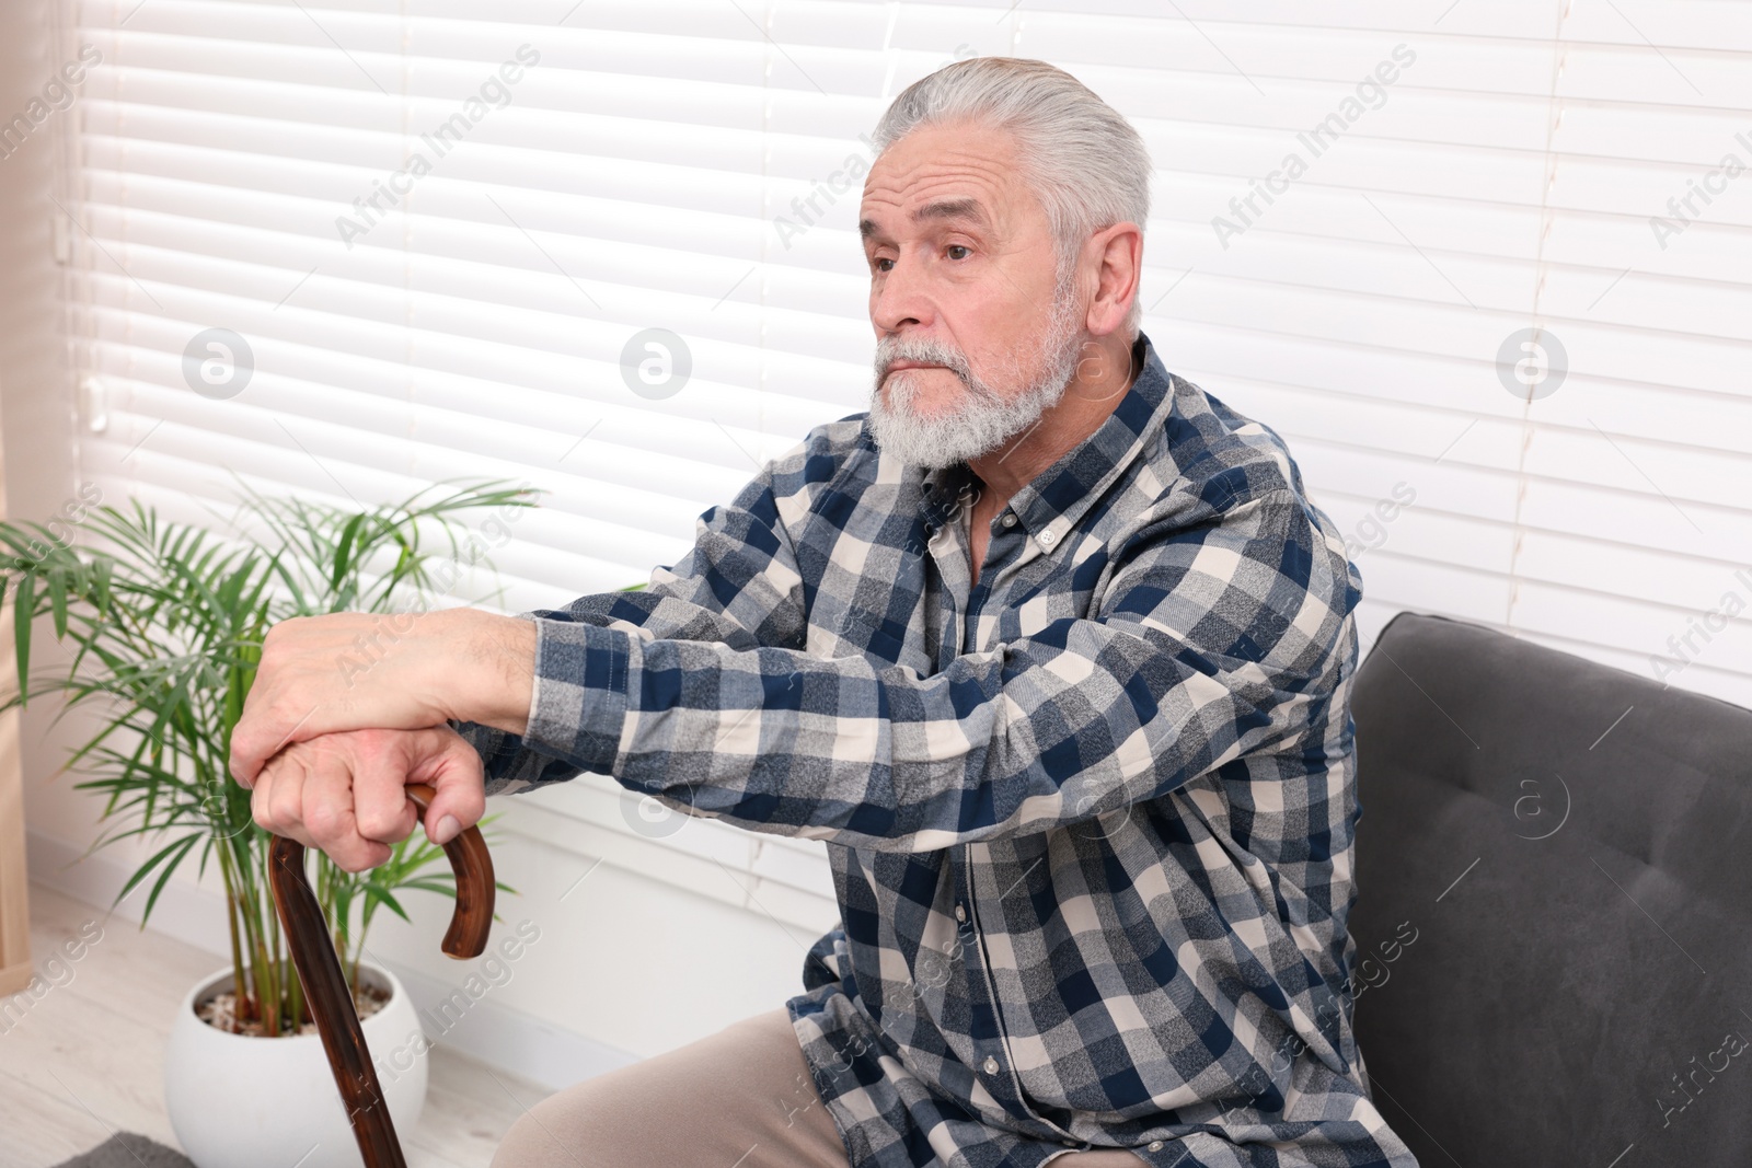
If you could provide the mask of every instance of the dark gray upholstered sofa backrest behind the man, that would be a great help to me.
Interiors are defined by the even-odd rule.
[[[1752,1164],[1752,711],[1400,613],[1353,716],[1358,1045],[1419,1163]]]

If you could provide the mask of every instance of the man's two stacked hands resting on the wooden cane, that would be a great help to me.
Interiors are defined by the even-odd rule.
[[[487,809],[480,755],[447,721],[522,734],[534,646],[533,622],[471,608],[284,620],[231,732],[231,777],[256,823],[347,872],[413,832],[408,783],[436,792],[424,827],[445,844]]]

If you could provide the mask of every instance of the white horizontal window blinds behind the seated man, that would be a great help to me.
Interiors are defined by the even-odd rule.
[[[864,406],[858,135],[950,60],[1041,56],[1149,142],[1146,329],[1289,440],[1356,541],[1365,643],[1451,613],[1643,674],[1663,655],[1752,706],[1752,177],[1724,166],[1752,165],[1743,5],[77,12],[103,61],[77,107],[75,319],[107,420],[81,457],[116,497],[201,518],[226,468],[366,501],[527,478],[552,494],[494,548],[505,608],[643,580],[760,461]],[[1692,182],[1720,191],[1680,222]],[[254,357],[223,399],[184,364],[214,327]],[[1519,350],[1500,361],[1526,327],[1568,366],[1533,399]],[[624,376],[645,329],[685,341],[673,396]],[[589,790],[580,816],[636,835]]]

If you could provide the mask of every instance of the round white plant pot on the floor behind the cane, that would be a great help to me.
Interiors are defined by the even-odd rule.
[[[359,977],[391,991],[384,1009],[361,1026],[396,1136],[406,1145],[426,1103],[420,1019],[394,974],[361,961]],[[251,1038],[214,1030],[194,1014],[194,1003],[230,988],[230,965],[203,977],[182,998],[170,1026],[165,1105],[182,1150],[196,1168],[361,1168],[322,1038]]]

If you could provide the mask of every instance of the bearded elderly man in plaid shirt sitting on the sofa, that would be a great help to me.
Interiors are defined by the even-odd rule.
[[[1279,436],[1137,331],[1149,159],[1067,74],[885,114],[869,415],[638,594],[273,629],[256,820],[380,863],[580,770],[827,842],[804,989],[536,1107],[501,1166],[1391,1164],[1351,1028],[1360,576]],[[701,956],[710,986],[711,954]]]

